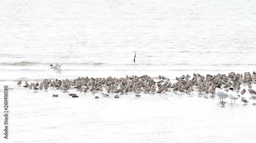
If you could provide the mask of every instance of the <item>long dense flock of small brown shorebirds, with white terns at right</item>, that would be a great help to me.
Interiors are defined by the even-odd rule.
[[[57,67],[61,65],[57,64]],[[53,67],[53,66],[52,66]],[[78,77],[75,80],[50,80],[45,79],[40,83],[25,82],[24,88],[35,90],[45,90],[52,88],[55,90],[61,90],[62,92],[69,92],[70,90],[77,89],[81,93],[92,93],[95,95],[96,92],[101,92],[103,97],[109,97],[109,94],[103,93],[103,89],[107,93],[116,94],[114,98],[119,98],[122,94],[135,93],[135,97],[141,97],[140,93],[145,94],[164,94],[170,91],[176,94],[193,94],[196,91],[198,94],[204,95],[205,98],[208,96],[214,98],[217,95],[220,98],[220,103],[225,105],[223,98],[230,98],[231,103],[234,103],[237,99],[241,98],[241,102],[247,104],[248,101],[245,99],[246,90],[241,90],[241,85],[248,86],[248,93],[251,95],[250,98],[256,99],[256,91],[252,90],[252,84],[256,83],[256,73],[245,72],[244,74],[230,72],[226,74],[217,74],[202,76],[194,73],[190,75],[182,75],[176,77],[176,82],[170,82],[169,78],[159,75],[158,79],[151,78],[148,75],[143,76],[126,76],[124,78],[108,77],[108,78],[89,78],[89,77]],[[17,83],[22,84],[22,81]],[[77,94],[69,94],[72,97],[78,97]],[[58,95],[53,95],[58,97]],[[96,99],[99,97],[96,96]],[[222,99],[222,101],[221,101]],[[253,103],[254,104],[254,103]],[[256,105],[256,104],[255,104]]]

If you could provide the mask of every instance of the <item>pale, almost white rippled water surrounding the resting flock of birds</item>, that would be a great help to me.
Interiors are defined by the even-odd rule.
[[[253,100],[243,105],[226,99],[221,107],[217,98],[199,98],[196,92],[118,100],[114,95],[95,100],[87,93],[70,99],[16,83],[143,74],[174,81],[194,72],[252,72],[255,5],[252,0],[2,2],[0,85],[12,89],[9,142],[252,141]],[[62,71],[49,70],[57,62],[64,64]]]

